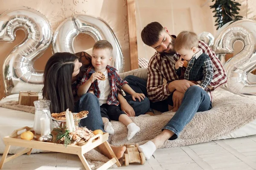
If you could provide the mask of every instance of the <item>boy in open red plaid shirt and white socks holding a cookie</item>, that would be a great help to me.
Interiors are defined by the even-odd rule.
[[[108,65],[111,61],[113,47],[106,40],[99,40],[93,45],[92,66],[84,73],[78,85],[77,94],[82,96],[87,91],[93,93],[99,98],[101,108],[102,121],[104,130],[110,134],[114,133],[110,120],[120,121],[128,128],[127,139],[130,140],[140,131],[130,117],[121,110],[118,100],[118,91],[121,88],[128,94],[131,94],[132,99],[136,98],[144,100],[145,95],[136,93],[129,85],[116,73],[116,68]],[[99,73],[100,72],[100,73]],[[106,78],[106,80],[102,80]]]

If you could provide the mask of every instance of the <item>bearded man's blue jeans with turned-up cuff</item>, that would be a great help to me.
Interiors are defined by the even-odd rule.
[[[145,80],[132,75],[127,76],[125,80],[130,86],[137,86],[138,90],[147,96],[147,82]],[[154,102],[153,105],[150,106],[158,111],[168,111],[167,100]],[[179,109],[162,130],[168,129],[175,133],[169,140],[177,139],[177,136],[192,120],[196,112],[208,111],[211,108],[212,103],[207,92],[202,88],[193,85],[186,90]]]

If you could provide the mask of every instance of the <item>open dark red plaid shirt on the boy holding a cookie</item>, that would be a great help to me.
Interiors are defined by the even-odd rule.
[[[116,73],[116,68],[111,67],[110,65],[107,65],[106,67],[108,71],[108,80],[109,84],[111,86],[111,92],[108,95],[108,105],[116,105],[118,106],[120,103],[117,99],[118,91],[122,88],[123,85],[128,84],[125,80],[121,79],[119,75]],[[93,66],[87,68],[87,70],[84,73],[84,77],[80,80],[79,84],[76,86],[76,89],[78,89],[81,85],[83,85],[88,79],[90,79],[91,75],[95,73]],[[120,88],[120,89],[118,89]],[[90,91],[94,92],[94,95],[100,97],[100,90],[99,90],[99,84],[98,80],[95,80],[92,85],[89,88]]]

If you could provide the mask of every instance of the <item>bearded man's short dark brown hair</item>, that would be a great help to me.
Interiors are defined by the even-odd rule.
[[[141,39],[145,45],[152,46],[157,43],[160,33],[164,30],[163,26],[158,22],[149,23],[141,31]]]

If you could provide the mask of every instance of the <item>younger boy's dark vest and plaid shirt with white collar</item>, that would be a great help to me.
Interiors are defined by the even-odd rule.
[[[175,69],[178,77],[181,76],[181,68]],[[201,87],[206,89],[212,81],[213,69],[210,57],[202,50],[198,51],[188,62],[184,79],[201,81]]]

